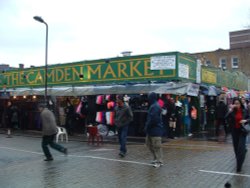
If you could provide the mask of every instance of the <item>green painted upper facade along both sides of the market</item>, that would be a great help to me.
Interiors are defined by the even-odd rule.
[[[187,54],[157,53],[49,65],[47,75],[48,87],[177,80],[195,83],[197,63]],[[0,85],[1,88],[44,87],[44,78],[44,67],[17,69],[1,73]],[[244,74],[209,67],[201,68],[201,83],[247,90]]]

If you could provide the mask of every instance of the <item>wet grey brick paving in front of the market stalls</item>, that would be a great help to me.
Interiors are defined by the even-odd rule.
[[[165,139],[164,165],[154,168],[143,142],[130,140],[128,154],[120,158],[114,138],[105,138],[104,144],[97,146],[76,135],[67,143],[60,142],[68,148],[68,156],[51,149],[54,161],[45,162],[41,135],[16,131],[12,138],[6,138],[3,130],[0,133],[0,182],[4,188],[219,188],[227,182],[236,188],[250,185],[250,156],[247,154],[242,172],[236,173],[230,138],[225,142],[199,137]]]

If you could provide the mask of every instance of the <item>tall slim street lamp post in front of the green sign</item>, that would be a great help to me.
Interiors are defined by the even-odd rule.
[[[45,88],[45,94],[44,94],[44,100],[45,104],[47,105],[47,87],[48,87],[48,31],[49,31],[49,26],[48,24],[40,17],[40,16],[34,16],[33,17],[36,21],[44,23],[46,26],[46,41],[45,41],[45,83],[44,83],[44,88]]]

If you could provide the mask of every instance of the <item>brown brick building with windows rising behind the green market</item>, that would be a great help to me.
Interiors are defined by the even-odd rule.
[[[230,49],[194,53],[205,66],[237,70],[250,77],[250,29],[229,33]]]

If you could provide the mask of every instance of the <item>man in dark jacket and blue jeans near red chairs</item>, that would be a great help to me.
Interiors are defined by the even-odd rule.
[[[124,103],[123,96],[119,95],[116,99],[117,106],[115,107],[115,125],[118,130],[118,138],[120,143],[120,157],[125,157],[127,153],[126,142],[128,134],[128,126],[133,120],[131,108]]]

